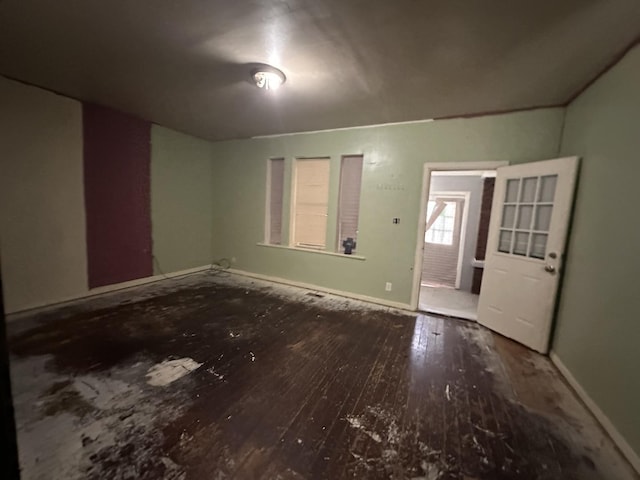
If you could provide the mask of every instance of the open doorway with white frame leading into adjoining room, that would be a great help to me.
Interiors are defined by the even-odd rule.
[[[425,164],[412,306],[477,320],[495,170],[507,162]]]

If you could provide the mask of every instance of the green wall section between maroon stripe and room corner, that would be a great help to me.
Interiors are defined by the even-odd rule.
[[[211,143],[153,125],[151,229],[154,273],[211,263]]]

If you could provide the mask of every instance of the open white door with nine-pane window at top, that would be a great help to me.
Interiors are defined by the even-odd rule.
[[[546,353],[578,158],[497,170],[478,322]]]

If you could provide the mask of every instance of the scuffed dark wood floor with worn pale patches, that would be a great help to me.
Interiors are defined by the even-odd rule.
[[[9,325],[25,479],[632,479],[475,323],[196,275]]]

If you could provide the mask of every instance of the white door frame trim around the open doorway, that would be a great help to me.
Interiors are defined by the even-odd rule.
[[[416,251],[413,261],[413,287],[411,289],[411,309],[418,310],[420,298],[420,280],[422,279],[422,261],[424,259],[424,229],[427,225],[427,202],[429,201],[429,188],[431,186],[431,173],[435,171],[460,171],[460,170],[497,170],[499,167],[509,165],[506,161],[495,162],[438,162],[425,163],[422,170],[422,189],[420,192],[420,213],[418,216],[418,231],[416,232]]]

